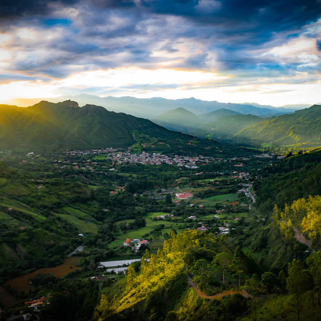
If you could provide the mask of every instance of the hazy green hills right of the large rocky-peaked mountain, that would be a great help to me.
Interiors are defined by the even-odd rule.
[[[166,128],[197,137],[212,137],[237,144],[317,144],[321,138],[321,107],[313,105],[294,113],[268,118],[218,109],[195,115],[183,108],[163,113],[153,121]]]

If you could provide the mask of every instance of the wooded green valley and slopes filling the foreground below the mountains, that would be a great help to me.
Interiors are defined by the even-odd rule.
[[[283,159],[202,156],[201,171],[114,164],[105,154],[3,156],[5,315],[44,297],[40,311],[27,304],[23,313],[53,321],[318,319],[317,149]],[[180,201],[178,191],[193,198]],[[147,243],[135,250],[122,245],[126,238]],[[124,259],[134,260],[125,273],[100,263]]]

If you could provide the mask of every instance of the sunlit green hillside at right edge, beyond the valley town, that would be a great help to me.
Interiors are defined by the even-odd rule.
[[[321,133],[321,106],[297,110],[275,119],[257,123],[235,134],[238,142],[249,140],[252,144],[271,142],[274,145],[318,143]]]

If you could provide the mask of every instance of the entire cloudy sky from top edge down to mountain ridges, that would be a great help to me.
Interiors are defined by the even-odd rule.
[[[0,99],[321,102],[321,0],[1,0]]]

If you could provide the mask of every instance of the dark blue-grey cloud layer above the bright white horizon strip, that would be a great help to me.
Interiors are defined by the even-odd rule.
[[[303,32],[317,39],[321,51],[319,31],[304,27],[320,17],[321,4],[312,0],[0,1],[3,31],[30,27],[54,35],[23,44],[16,36],[8,47],[23,55],[13,55],[11,70],[55,78],[99,68],[155,68],[170,55],[179,60],[172,68],[244,77],[294,75],[298,69],[313,73],[311,66],[262,53]]]

